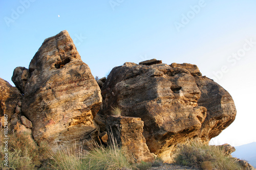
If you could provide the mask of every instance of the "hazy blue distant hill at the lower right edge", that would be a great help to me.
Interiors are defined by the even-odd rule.
[[[231,155],[239,159],[248,161],[252,166],[256,167],[256,142],[241,145],[236,148],[236,152]]]

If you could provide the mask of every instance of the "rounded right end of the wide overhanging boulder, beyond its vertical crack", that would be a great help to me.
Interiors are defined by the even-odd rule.
[[[207,116],[199,131],[201,138],[218,136],[236,118],[237,110],[231,95],[207,77],[195,76],[201,97],[198,105],[207,109]]]

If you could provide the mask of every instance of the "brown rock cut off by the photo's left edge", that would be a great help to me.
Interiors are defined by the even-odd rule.
[[[20,101],[22,101],[22,94],[19,90],[0,78],[0,116],[6,114],[10,120]]]

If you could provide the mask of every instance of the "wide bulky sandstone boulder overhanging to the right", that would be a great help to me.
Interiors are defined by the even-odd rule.
[[[216,86],[214,92],[205,87],[209,84]],[[124,63],[113,68],[101,91],[100,113],[110,115],[118,106],[122,116],[140,117],[148,148],[165,162],[171,161],[177,143],[196,136],[215,137],[236,116],[228,92],[202,77],[192,64]]]

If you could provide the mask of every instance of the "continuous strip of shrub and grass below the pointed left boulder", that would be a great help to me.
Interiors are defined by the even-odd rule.
[[[130,163],[129,158],[118,148],[113,136],[111,136],[113,144],[108,147],[94,141],[90,150],[86,151],[82,149],[82,145],[77,147],[74,143],[73,148],[62,148],[57,153],[52,153],[49,152],[51,149],[46,143],[38,146],[34,141],[29,140],[29,135],[29,133],[16,131],[8,135],[10,169],[148,169],[162,163],[159,159],[156,159],[154,163]],[[1,169],[5,169],[4,138],[4,133],[1,131]]]

